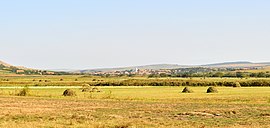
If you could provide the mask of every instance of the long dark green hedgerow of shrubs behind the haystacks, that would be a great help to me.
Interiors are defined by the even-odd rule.
[[[270,80],[241,80],[235,82],[235,80],[177,80],[177,79],[130,79],[124,81],[96,81],[89,83],[91,86],[226,86],[234,87],[250,87],[250,86],[270,86]],[[237,84],[237,85],[236,85]]]

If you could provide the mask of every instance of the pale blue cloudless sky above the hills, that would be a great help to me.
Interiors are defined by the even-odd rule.
[[[1,0],[0,60],[39,69],[270,61],[269,0]]]

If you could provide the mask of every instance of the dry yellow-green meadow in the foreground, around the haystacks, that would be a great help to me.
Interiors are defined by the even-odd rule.
[[[0,127],[270,127],[270,87],[99,87],[0,89]]]

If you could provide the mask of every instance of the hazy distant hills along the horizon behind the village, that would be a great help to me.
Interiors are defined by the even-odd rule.
[[[87,69],[87,70],[69,70],[69,69],[55,69],[50,71],[30,69],[25,67],[13,66],[4,61],[0,61],[0,74],[65,74],[65,73],[93,73],[93,72],[110,72],[110,71],[130,71],[135,69],[149,69],[149,70],[160,70],[160,69],[181,69],[181,68],[250,68],[252,69],[260,67],[270,67],[270,62],[263,63],[252,63],[248,61],[236,61],[236,62],[224,62],[214,63],[206,65],[178,65],[178,64],[154,64],[154,65],[143,65],[143,66],[129,66],[129,67],[118,67],[118,68],[99,68],[99,69]]]

